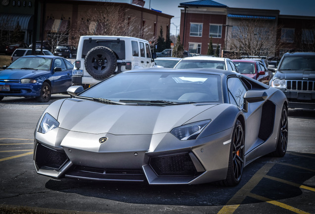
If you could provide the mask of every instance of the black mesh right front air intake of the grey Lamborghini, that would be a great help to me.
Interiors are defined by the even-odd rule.
[[[152,157],[150,165],[157,175],[195,175],[197,172],[189,154]]]

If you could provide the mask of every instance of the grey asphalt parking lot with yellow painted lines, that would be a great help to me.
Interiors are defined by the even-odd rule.
[[[66,97],[53,95],[51,102]],[[149,186],[38,175],[32,160],[33,133],[47,106],[22,98],[0,102],[0,207],[51,213],[315,214],[313,110],[289,110],[287,154],[250,163],[236,187]]]

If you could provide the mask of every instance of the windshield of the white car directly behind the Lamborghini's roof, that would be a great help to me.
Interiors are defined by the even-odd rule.
[[[223,61],[215,60],[181,60],[174,67],[176,69],[188,69],[188,68],[217,68],[225,70]]]

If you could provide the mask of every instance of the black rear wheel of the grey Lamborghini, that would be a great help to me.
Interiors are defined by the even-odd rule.
[[[283,157],[287,152],[288,146],[288,109],[286,106],[282,107],[281,118],[279,124],[279,132],[277,139],[276,150],[271,153],[273,157]]]

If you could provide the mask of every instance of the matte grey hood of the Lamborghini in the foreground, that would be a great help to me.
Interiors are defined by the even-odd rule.
[[[76,132],[114,135],[157,134],[171,131],[213,106],[215,105],[107,105],[94,101],[67,99],[60,107],[57,120],[60,128]]]

